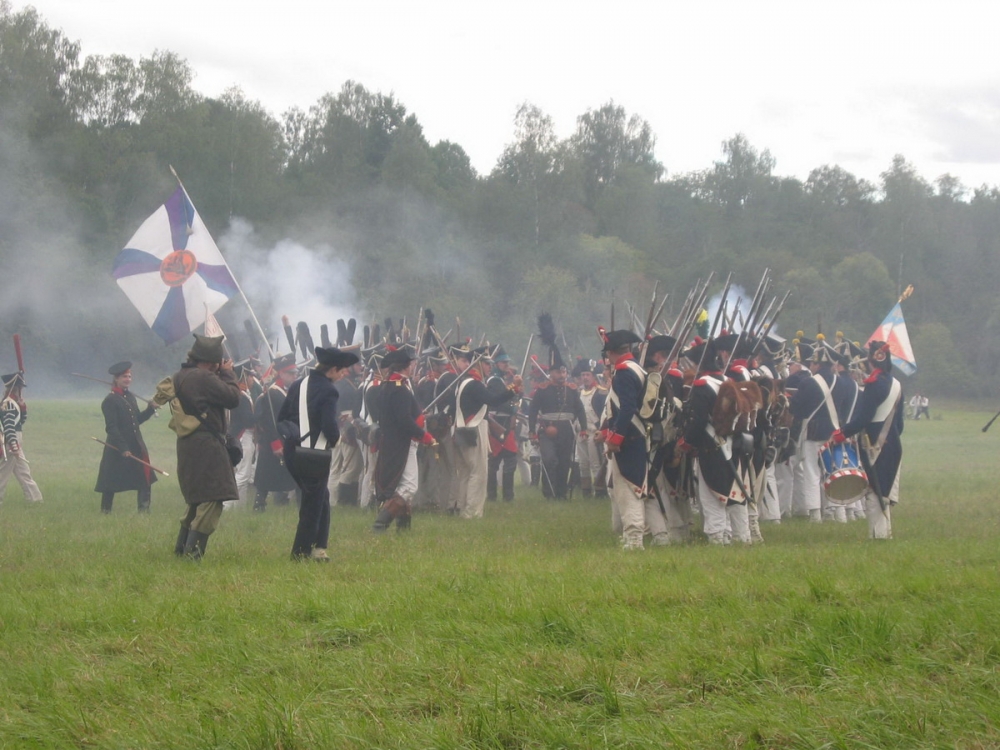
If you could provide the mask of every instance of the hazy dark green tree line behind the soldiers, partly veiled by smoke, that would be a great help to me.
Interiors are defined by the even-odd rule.
[[[669,316],[710,270],[752,287],[770,268],[793,290],[786,336],[822,326],[863,341],[912,283],[904,313],[917,385],[1000,390],[997,187],[928,181],[901,155],[878,183],[836,165],[782,177],[742,134],[707,168],[672,175],[649,123],[614,102],[580,115],[566,139],[525,103],[480,174],[460,144],[430,143],[416,114],[361,83],[276,116],[238,88],[203,96],[193,78],[168,51],[84,58],[34,9],[0,0],[0,257],[24,275],[63,248],[73,272],[53,280],[55,296],[72,296],[72,281],[107,297],[59,324],[39,312],[31,284],[32,299],[6,301],[4,328],[33,330],[53,365],[108,335],[167,357],[133,325],[109,271],[172,191],[172,165],[217,236],[239,217],[265,240],[348,261],[363,319],[412,321],[432,306],[523,351],[544,310],[571,353],[592,356],[612,296],[619,309],[643,306],[659,280],[672,292]],[[274,327],[295,314],[254,304]]]

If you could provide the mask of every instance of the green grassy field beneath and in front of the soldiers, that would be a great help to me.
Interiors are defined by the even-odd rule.
[[[172,554],[171,477],[101,516],[98,402],[33,402],[45,494],[0,507],[0,746],[1000,747],[1000,530],[986,412],[907,422],[896,539],[765,525],[764,546],[626,554],[607,501],[518,488],[479,521],[373,537],[227,511]],[[949,408],[950,407],[950,408]],[[146,426],[174,467],[166,420]]]

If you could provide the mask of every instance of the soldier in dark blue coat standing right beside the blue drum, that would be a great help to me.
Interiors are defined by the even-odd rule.
[[[892,376],[892,357],[884,341],[868,344],[872,374],[865,378],[854,416],[831,440],[861,435],[859,453],[868,474],[865,515],[872,539],[891,539],[890,509],[899,502],[899,463],[903,457],[903,387]]]

